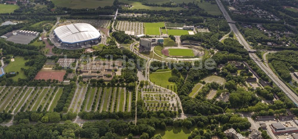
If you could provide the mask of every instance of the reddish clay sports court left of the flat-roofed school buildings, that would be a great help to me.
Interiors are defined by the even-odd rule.
[[[61,82],[65,73],[66,71],[39,71],[34,79],[56,79]]]

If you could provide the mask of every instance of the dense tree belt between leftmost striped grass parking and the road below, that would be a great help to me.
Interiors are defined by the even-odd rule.
[[[43,123],[47,122],[59,122],[59,121],[66,121],[72,120],[76,118],[77,114],[68,112],[66,114],[57,113],[57,112],[37,112],[37,111],[25,111],[19,112],[14,116],[14,121],[18,124],[33,121],[38,122],[41,121]]]

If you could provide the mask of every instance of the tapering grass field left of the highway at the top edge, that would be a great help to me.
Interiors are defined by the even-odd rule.
[[[193,2],[193,0],[173,0],[176,3],[189,3]],[[198,4],[200,8],[205,10],[207,13],[211,15],[221,15],[221,10],[218,8],[217,4],[211,4],[210,2],[200,2],[199,0],[195,1],[194,4]]]

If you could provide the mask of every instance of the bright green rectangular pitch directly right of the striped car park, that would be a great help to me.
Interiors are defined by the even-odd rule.
[[[164,27],[163,22],[158,23],[145,23],[144,33],[146,35],[160,35],[159,28]]]

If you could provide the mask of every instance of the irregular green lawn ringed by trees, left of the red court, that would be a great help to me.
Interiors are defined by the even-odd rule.
[[[14,81],[18,81],[18,78],[24,79],[26,78],[26,75],[24,74],[24,71],[21,70],[21,68],[29,68],[30,66],[25,66],[25,62],[29,60],[24,60],[23,57],[15,57],[15,61],[11,62],[4,68],[4,71],[6,73],[10,71],[19,72],[16,76],[11,77]]]

